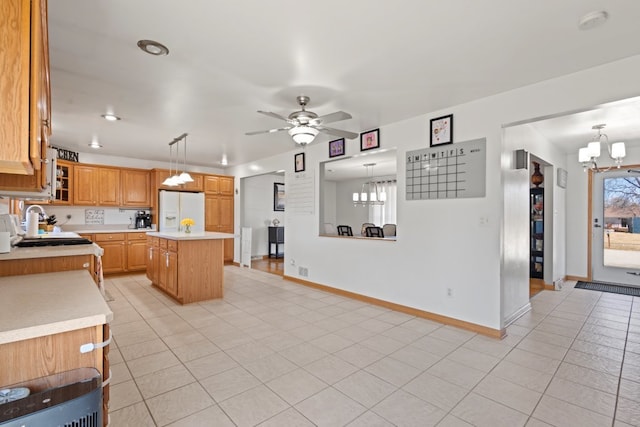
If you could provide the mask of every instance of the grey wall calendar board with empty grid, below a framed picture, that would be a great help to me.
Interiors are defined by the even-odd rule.
[[[484,197],[486,138],[407,151],[407,200]]]

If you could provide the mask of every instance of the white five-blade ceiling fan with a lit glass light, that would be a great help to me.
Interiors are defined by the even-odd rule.
[[[273,133],[283,130],[288,131],[289,135],[293,138],[296,144],[307,145],[313,141],[319,132],[327,133],[329,135],[339,136],[341,138],[355,139],[358,137],[357,133],[349,132],[341,129],[334,129],[325,126],[325,123],[338,122],[340,120],[347,120],[351,118],[351,114],[344,111],[336,111],[335,113],[326,114],[324,116],[318,116],[313,111],[305,110],[306,105],[309,103],[309,97],[300,95],[296,98],[298,104],[300,104],[300,111],[294,111],[289,114],[289,117],[281,116],[280,114],[272,113],[270,111],[260,111],[258,113],[265,116],[273,117],[276,119],[284,120],[288,123],[288,126],[281,128],[274,128],[268,130],[259,130],[254,132],[247,132],[247,135],[258,135],[261,133]]]

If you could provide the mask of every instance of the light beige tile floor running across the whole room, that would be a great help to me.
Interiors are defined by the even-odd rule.
[[[114,301],[111,426],[638,426],[640,300],[543,291],[498,341],[225,267],[180,306]]]

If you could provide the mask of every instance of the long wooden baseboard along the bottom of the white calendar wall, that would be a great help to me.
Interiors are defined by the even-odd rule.
[[[357,294],[355,292],[345,291],[343,289],[333,288],[327,285],[320,285],[315,282],[310,282],[308,280],[299,279],[297,277],[292,276],[283,276],[285,280],[289,280],[291,282],[298,283],[300,285],[308,286],[310,288],[318,289],[325,292],[330,292],[332,294],[340,295],[343,297],[355,299],[358,301],[366,302],[369,304],[377,305],[379,307],[388,308],[390,310],[399,311],[401,313],[410,314],[412,316],[421,317],[423,319],[433,320],[435,322],[444,323],[445,325],[455,326],[457,328],[466,329],[467,331],[475,332],[478,334],[482,334],[491,338],[502,339],[507,336],[507,330],[503,329],[493,329],[488,328],[486,326],[478,325],[476,323],[466,322],[464,320],[455,319],[453,317],[443,316],[441,314],[431,313],[429,311],[419,310],[413,307],[407,307],[406,305],[400,305],[393,302],[369,297],[362,294]]]

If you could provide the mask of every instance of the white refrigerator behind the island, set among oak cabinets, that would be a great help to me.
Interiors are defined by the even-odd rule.
[[[193,232],[204,231],[204,193],[160,190],[159,231],[184,231],[180,221],[191,218]]]

